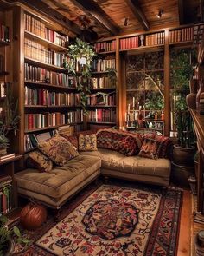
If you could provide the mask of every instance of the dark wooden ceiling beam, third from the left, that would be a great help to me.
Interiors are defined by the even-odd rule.
[[[129,5],[134,15],[137,17],[137,20],[143,26],[143,30],[150,30],[150,24],[147,21],[146,16],[143,14],[143,10],[140,8],[137,0],[125,0]]]

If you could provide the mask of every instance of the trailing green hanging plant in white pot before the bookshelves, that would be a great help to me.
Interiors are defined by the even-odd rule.
[[[90,92],[90,78],[92,59],[96,56],[92,46],[89,43],[76,38],[75,42],[69,45],[69,58],[64,62],[64,68],[73,76],[77,76],[76,67],[80,64],[81,75],[77,81],[77,89],[80,92],[80,105],[84,115],[88,115],[87,111],[87,95]]]

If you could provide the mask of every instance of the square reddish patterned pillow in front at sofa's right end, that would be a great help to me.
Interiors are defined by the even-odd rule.
[[[160,141],[145,138],[138,155],[150,159],[157,159],[159,157],[161,145]]]

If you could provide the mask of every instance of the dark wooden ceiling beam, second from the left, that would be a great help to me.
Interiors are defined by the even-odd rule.
[[[112,36],[117,36],[119,27],[110,22],[106,17],[106,13],[93,0],[71,0],[74,5],[91,16],[100,26],[105,28]]]

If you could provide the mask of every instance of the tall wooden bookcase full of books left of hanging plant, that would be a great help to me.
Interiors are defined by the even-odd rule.
[[[79,130],[83,124],[83,115],[81,115],[82,110],[79,102],[61,103],[58,102],[58,98],[53,98],[55,95],[61,98],[62,95],[72,97],[72,95],[79,94],[76,89],[77,81],[73,81],[72,77],[67,74],[67,70],[63,68],[63,59],[66,58],[68,53],[66,43],[69,35],[61,33],[67,33],[67,29],[59,23],[54,23],[48,16],[35,15],[32,10],[25,6],[14,7],[14,17],[14,30],[16,31],[16,38],[18,38],[14,47],[20,49],[20,54],[16,53],[17,61],[14,65],[16,66],[14,68],[16,69],[17,81],[16,95],[19,97],[21,115],[18,143],[16,144],[18,145],[18,152],[24,154],[28,151],[24,147],[26,145],[25,135],[52,133],[63,125],[71,125]],[[27,23],[30,20],[31,23]],[[37,25],[36,27],[32,27],[34,23]],[[43,29],[41,30],[41,28]],[[46,31],[44,31],[44,28],[46,28]],[[35,47],[36,50],[34,51]],[[27,99],[25,88],[30,90],[30,99],[32,99],[33,94],[37,96],[35,102],[32,100],[29,100],[31,101],[29,103],[25,102]],[[51,103],[41,102],[42,91],[48,95],[48,97],[43,96],[44,101],[47,101],[50,97]],[[71,113],[75,113],[73,117]],[[54,117],[54,115],[58,115],[58,117]],[[29,128],[28,116],[29,120],[32,119]],[[36,121],[38,118],[41,118],[41,121]],[[40,124],[39,128],[38,123]]]

